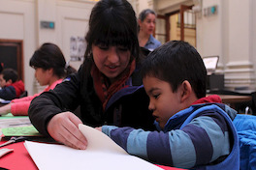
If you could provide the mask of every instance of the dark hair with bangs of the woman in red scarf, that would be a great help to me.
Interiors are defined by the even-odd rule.
[[[131,51],[131,59],[139,57],[137,18],[126,0],[101,0],[92,9],[85,36],[85,60],[92,55],[92,44],[122,45]]]

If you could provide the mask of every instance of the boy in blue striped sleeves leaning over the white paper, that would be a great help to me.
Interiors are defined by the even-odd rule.
[[[207,71],[187,42],[167,42],[144,61],[144,90],[157,131],[103,126],[129,154],[179,168],[239,169],[237,112],[206,97]],[[136,118],[135,118],[136,119]]]

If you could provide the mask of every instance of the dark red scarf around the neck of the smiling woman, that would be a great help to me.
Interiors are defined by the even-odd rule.
[[[129,86],[126,84],[126,81],[129,79],[133,71],[135,71],[135,67],[136,63],[135,60],[133,60],[131,64],[127,66],[125,71],[123,71],[120,75],[117,75],[119,78],[111,84],[109,78],[99,71],[95,64],[93,64],[91,68],[91,76],[93,78],[94,89],[102,101],[104,110],[113,94]]]

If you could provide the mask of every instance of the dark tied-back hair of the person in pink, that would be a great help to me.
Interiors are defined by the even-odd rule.
[[[43,70],[53,69],[53,73],[58,77],[64,77],[76,70],[66,64],[60,48],[53,43],[42,44],[30,59],[29,66],[41,68]]]

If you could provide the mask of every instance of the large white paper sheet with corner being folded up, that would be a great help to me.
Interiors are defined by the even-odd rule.
[[[111,138],[95,128],[80,125],[86,136],[86,150],[64,145],[25,141],[24,145],[40,170],[160,170],[137,156],[128,155]]]

